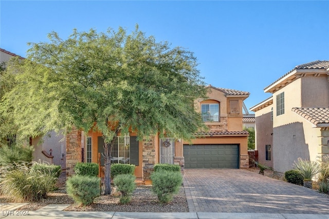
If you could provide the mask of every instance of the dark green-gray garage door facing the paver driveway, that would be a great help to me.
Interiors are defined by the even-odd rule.
[[[239,168],[239,145],[184,145],[185,168]]]

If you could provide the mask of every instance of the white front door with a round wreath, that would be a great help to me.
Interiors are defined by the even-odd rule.
[[[175,139],[160,138],[160,163],[174,164]]]

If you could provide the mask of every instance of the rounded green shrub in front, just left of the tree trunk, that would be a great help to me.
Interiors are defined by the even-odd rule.
[[[76,203],[89,205],[100,196],[100,178],[97,176],[74,175],[66,181],[66,192]]]

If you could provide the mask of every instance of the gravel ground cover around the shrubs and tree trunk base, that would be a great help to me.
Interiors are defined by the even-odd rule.
[[[49,193],[47,198],[40,202],[30,203],[18,210],[35,211],[50,204],[70,204],[64,211],[189,212],[184,187],[180,188],[179,193],[174,195],[174,199],[168,204],[159,203],[156,195],[151,192],[152,186],[148,185],[136,187],[131,203],[126,205],[119,203],[119,197],[102,195],[95,198],[93,204],[80,206],[66,194],[65,180],[63,172],[57,183],[58,190]]]

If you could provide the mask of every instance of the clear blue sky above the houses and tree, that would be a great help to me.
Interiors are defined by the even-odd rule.
[[[193,51],[205,82],[250,92],[247,108],[271,94],[264,87],[296,65],[329,60],[328,1],[0,1],[0,47],[25,57],[27,42],[50,31],[105,32],[119,26]]]

